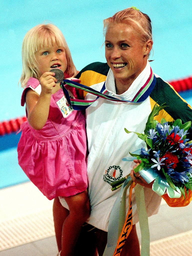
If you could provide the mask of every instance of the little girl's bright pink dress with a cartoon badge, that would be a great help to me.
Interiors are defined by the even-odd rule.
[[[39,81],[30,78],[23,91],[36,90]],[[28,178],[49,199],[71,196],[87,188],[87,138],[85,117],[72,110],[62,89],[51,95],[49,116],[41,130],[28,121],[22,124],[18,162]]]

